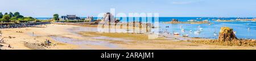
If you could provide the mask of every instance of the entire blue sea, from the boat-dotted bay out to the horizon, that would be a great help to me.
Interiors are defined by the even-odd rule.
[[[51,18],[37,18],[37,19],[51,19]],[[94,19],[101,19],[94,17]],[[118,18],[121,21],[125,21],[123,18]],[[139,20],[143,18],[126,18]],[[147,18],[146,18],[147,19]],[[163,22],[171,21],[172,19],[177,19],[179,21],[188,21],[188,20],[209,20],[212,24],[164,24]],[[213,20],[214,19],[214,20]],[[214,36],[214,33],[218,35],[221,27],[230,27],[233,28],[233,31],[236,32],[237,38],[241,39],[256,39],[256,21],[226,21],[218,22],[217,19],[221,20],[236,20],[236,19],[253,19],[253,18],[220,18],[220,17],[159,17],[159,31],[167,31],[170,33],[180,33],[180,36],[183,34],[188,34],[189,37],[200,37],[200,38],[209,38],[217,39],[218,36]],[[152,18],[154,21],[154,18]],[[168,27],[168,28],[167,28]],[[201,29],[200,29],[201,28]],[[184,31],[181,31],[184,29]],[[196,32],[200,31],[200,33]]]

